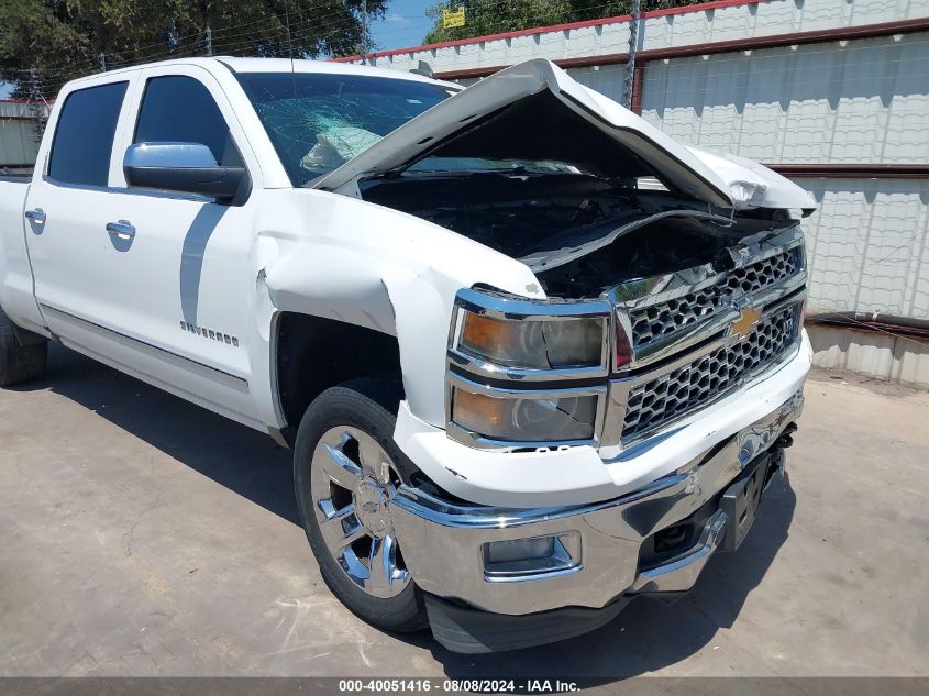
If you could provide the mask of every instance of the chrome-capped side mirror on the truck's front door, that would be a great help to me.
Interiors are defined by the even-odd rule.
[[[210,148],[200,143],[139,143],[123,157],[123,173],[130,186],[236,198],[247,183],[244,167],[221,167]]]

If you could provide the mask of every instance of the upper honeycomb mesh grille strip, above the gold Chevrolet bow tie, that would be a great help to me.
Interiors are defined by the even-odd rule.
[[[730,297],[757,292],[800,269],[800,251],[790,248],[720,275],[711,286],[631,312],[632,345],[641,349],[712,314]]]

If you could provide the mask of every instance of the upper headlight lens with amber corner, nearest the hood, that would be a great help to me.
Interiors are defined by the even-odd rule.
[[[602,362],[602,317],[502,319],[462,310],[457,349],[491,363],[529,369],[596,367]]]

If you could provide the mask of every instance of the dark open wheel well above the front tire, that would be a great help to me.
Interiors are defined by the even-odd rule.
[[[400,374],[397,339],[374,329],[309,314],[283,312],[274,356],[277,397],[294,444],[307,407],[325,389],[367,375]]]

